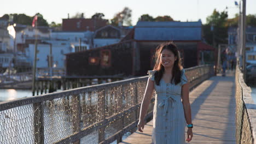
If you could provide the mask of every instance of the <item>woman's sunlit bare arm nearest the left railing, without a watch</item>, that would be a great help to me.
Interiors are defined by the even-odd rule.
[[[148,78],[146,91],[144,93],[144,97],[143,97],[143,100],[141,103],[141,111],[139,113],[138,130],[141,132],[143,132],[142,129],[144,129],[144,117],[148,111],[148,107],[149,107],[150,101],[152,99],[153,91],[154,91],[154,81],[152,81],[152,80],[150,80],[150,78]]]

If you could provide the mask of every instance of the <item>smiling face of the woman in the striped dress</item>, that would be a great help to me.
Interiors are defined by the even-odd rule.
[[[164,49],[161,52],[161,64],[165,68],[173,67],[174,62],[176,61],[177,57],[174,56],[174,53],[170,50]]]

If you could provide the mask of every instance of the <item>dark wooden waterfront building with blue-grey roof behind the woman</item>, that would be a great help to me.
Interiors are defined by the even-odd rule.
[[[146,75],[154,67],[156,47],[174,41],[184,68],[200,64],[201,51],[214,51],[201,40],[201,22],[138,22],[118,44],[66,55],[67,76]]]

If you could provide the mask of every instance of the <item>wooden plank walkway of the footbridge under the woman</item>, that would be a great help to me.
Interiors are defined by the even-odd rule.
[[[194,137],[189,143],[236,143],[234,73],[211,77],[190,92]],[[120,143],[152,143],[152,128],[153,121],[150,121],[145,125],[144,133],[137,130]],[[187,132],[185,136],[187,139]]]

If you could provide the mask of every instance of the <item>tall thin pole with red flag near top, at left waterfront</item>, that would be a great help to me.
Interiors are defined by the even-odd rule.
[[[37,21],[35,23],[34,33],[36,35],[34,40],[34,66],[33,66],[33,80],[32,80],[32,96],[34,96],[35,84],[36,84],[36,68],[37,68]]]

